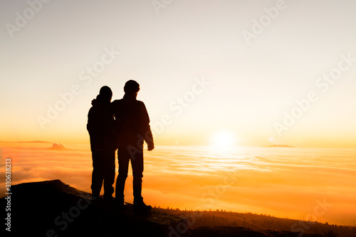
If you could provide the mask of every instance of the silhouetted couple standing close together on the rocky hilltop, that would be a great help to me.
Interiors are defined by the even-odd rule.
[[[88,113],[88,132],[93,156],[92,193],[100,196],[104,183],[104,199],[113,199],[115,180],[115,150],[119,163],[119,174],[115,187],[115,202],[119,208],[125,207],[124,189],[129,163],[133,176],[133,196],[135,211],[150,211],[142,198],[143,143],[152,151],[152,131],[145,104],[137,101],[140,85],[133,80],[124,86],[125,95],[111,102],[112,91],[103,86]]]

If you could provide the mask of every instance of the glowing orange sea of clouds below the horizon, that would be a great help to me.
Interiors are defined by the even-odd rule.
[[[52,150],[52,143],[0,145],[2,157],[11,157],[13,185],[58,178],[90,192],[89,145],[66,144],[60,150]],[[356,213],[355,156],[355,150],[337,149],[221,152],[206,146],[157,146],[145,151],[142,193],[146,203],[163,208],[224,208],[296,219],[312,213],[316,221],[351,225]],[[132,202],[129,172],[125,197]],[[4,193],[4,180],[0,191]],[[320,203],[328,208],[323,215],[313,213]]]

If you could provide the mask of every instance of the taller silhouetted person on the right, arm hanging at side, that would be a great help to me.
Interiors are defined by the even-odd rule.
[[[123,99],[112,102],[112,108],[117,123],[119,174],[116,180],[115,198],[117,203],[124,206],[124,189],[129,162],[131,160],[133,176],[134,210],[147,212],[151,206],[143,202],[142,172],[143,172],[143,142],[146,141],[148,151],[152,151],[153,143],[150,128],[150,118],[145,104],[137,101],[140,85],[133,80],[127,81],[124,87]]]

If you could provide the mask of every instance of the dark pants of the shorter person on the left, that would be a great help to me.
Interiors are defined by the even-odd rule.
[[[115,150],[92,151],[93,173],[91,190],[93,196],[100,196],[104,182],[104,196],[112,196],[115,181]]]

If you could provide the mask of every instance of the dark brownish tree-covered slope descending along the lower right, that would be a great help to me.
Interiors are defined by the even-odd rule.
[[[290,218],[277,218],[266,214],[236,213],[232,211],[190,211],[179,210],[178,208],[155,208],[172,216],[178,216],[187,219],[187,224],[192,227],[192,231],[197,228],[206,228],[206,226],[218,228],[224,226],[227,231],[230,227],[244,227],[254,231],[272,234],[299,232],[298,236],[308,236],[308,234],[318,233],[320,236],[342,236],[356,237],[355,226],[337,226],[329,223],[320,223],[318,221],[300,221]],[[203,228],[203,229],[204,229]],[[212,229],[214,229],[212,228]]]

